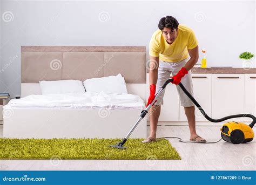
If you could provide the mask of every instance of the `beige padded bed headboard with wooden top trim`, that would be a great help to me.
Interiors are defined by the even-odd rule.
[[[21,97],[41,94],[39,81],[121,73],[127,90],[146,99],[145,46],[21,46]]]

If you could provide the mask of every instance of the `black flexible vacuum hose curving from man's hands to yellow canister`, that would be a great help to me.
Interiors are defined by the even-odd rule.
[[[187,95],[187,97],[191,99],[191,101],[194,103],[194,105],[196,105],[198,107],[199,111],[204,115],[204,117],[207,120],[209,120],[211,122],[221,122],[221,121],[225,121],[225,120],[231,119],[231,118],[248,117],[248,118],[252,118],[252,122],[249,126],[251,128],[254,126],[255,117],[252,114],[235,114],[235,115],[229,115],[227,117],[220,118],[220,119],[212,119],[212,118],[208,117],[208,115],[205,113],[204,109],[198,104],[198,102],[192,97],[192,95],[186,90],[186,88],[181,83],[179,83],[178,85],[184,91],[184,93]]]

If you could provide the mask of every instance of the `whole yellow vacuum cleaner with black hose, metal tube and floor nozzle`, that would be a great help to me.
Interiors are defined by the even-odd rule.
[[[139,119],[137,120],[136,124],[131,128],[129,133],[125,136],[125,138],[122,140],[122,142],[117,143],[116,145],[111,145],[110,147],[118,148],[118,149],[126,149],[127,147],[124,147],[124,143],[127,141],[127,139],[130,137],[134,129],[138,126],[139,122],[145,117],[145,115],[148,113],[149,109],[151,106],[153,106],[154,102],[157,100],[161,92],[164,91],[165,87],[167,84],[171,83],[173,79],[167,80],[164,85],[160,88],[160,90],[157,92],[156,97],[154,100],[151,102],[150,105],[144,109],[141,114]],[[184,93],[187,95],[188,98],[191,99],[191,101],[196,105],[199,109],[199,111],[204,115],[204,117],[211,122],[221,122],[225,121],[227,119],[231,118],[240,118],[240,117],[248,117],[252,118],[252,122],[250,125],[246,125],[242,122],[227,122],[226,124],[223,125],[223,127],[220,129],[221,131],[221,138],[224,141],[231,142],[233,144],[239,144],[239,143],[246,143],[250,142],[254,138],[254,133],[253,133],[253,126],[255,124],[255,117],[252,114],[235,114],[235,115],[229,115],[224,118],[220,119],[212,119],[208,117],[208,115],[205,113],[204,109],[198,104],[198,102],[193,98],[193,96],[186,90],[186,88],[183,86],[183,84],[179,83],[178,84],[180,88],[184,91]]]

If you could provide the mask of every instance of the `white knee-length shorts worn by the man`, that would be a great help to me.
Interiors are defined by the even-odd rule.
[[[187,59],[177,61],[175,63],[169,62],[169,61],[163,61],[159,60],[159,67],[158,67],[158,79],[156,84],[156,94],[160,90],[160,88],[164,85],[165,81],[170,78],[170,75],[172,73],[172,76],[176,75],[181,67],[184,67],[187,62]],[[186,90],[193,95],[193,83],[192,83],[192,76],[191,71],[188,71],[188,73],[181,78],[181,83],[186,88]],[[170,85],[170,84],[169,84]],[[171,84],[174,85],[174,84]],[[191,101],[190,98],[187,97],[187,95],[181,90],[179,85],[176,85],[179,99],[180,99],[180,105],[183,107],[191,107],[194,105],[194,103]],[[155,105],[163,105],[164,104],[164,91],[159,95],[157,98],[157,102]],[[171,102],[169,102],[171,103]]]

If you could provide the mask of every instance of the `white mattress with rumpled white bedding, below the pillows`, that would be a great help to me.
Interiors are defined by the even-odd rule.
[[[106,94],[105,92],[82,94],[28,95],[12,99],[3,108],[12,109],[144,109],[145,103],[134,94]]]

